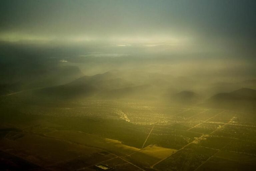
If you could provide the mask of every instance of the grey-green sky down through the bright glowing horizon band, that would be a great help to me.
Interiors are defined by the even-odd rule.
[[[256,38],[254,0],[2,0],[0,8],[0,37],[9,41],[220,48],[253,47]]]

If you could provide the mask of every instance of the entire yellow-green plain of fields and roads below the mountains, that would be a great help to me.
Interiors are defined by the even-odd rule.
[[[1,107],[0,150],[28,168],[217,171],[256,162],[256,126],[243,113],[125,101],[16,106]]]

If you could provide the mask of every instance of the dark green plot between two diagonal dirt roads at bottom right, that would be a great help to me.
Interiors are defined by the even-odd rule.
[[[164,171],[193,171],[217,152],[197,144],[190,144],[157,164],[155,168]]]

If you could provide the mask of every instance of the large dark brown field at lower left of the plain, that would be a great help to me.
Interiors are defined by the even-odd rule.
[[[2,139],[0,149],[21,157],[40,166],[54,166],[58,163],[69,163],[83,160],[83,167],[112,158],[113,155],[102,156],[98,154],[101,149],[73,144],[55,138],[26,134],[16,140]],[[51,155],[49,155],[49,152]],[[72,170],[78,169],[75,166]]]

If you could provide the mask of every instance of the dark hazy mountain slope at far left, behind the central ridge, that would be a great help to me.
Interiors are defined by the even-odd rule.
[[[6,75],[0,83],[0,95],[10,94],[13,92],[35,89],[40,87],[50,87],[69,83],[70,81],[81,77],[83,74],[77,66],[55,66],[55,67],[38,67],[29,71],[23,71]],[[3,77],[3,76],[2,76]]]

